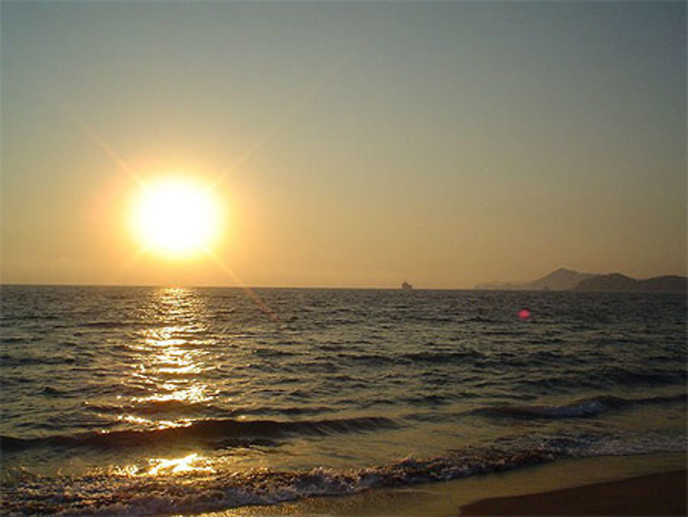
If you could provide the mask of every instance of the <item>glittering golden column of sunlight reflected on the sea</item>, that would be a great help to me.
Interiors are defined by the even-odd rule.
[[[125,381],[133,392],[125,395],[122,390],[117,395],[122,402],[118,403],[116,421],[129,429],[145,431],[191,426],[196,419],[204,418],[206,405],[219,391],[210,377],[215,364],[209,351],[213,337],[208,334],[207,308],[193,289],[160,289],[140,309],[140,321],[143,325],[131,343],[135,352],[127,361]],[[173,445],[171,450],[164,448],[165,443],[157,449],[160,456],[185,455],[144,456],[131,464],[113,467],[114,472],[129,477],[215,472],[210,459],[197,452],[189,454],[189,443]]]

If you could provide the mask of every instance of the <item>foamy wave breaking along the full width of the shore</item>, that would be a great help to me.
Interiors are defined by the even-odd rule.
[[[685,451],[682,433],[533,437],[537,445],[468,447],[438,456],[407,456],[371,467],[316,467],[294,471],[220,470],[213,474],[147,476],[118,470],[36,478],[19,472],[3,486],[0,512],[8,515],[195,514],[247,505],[275,505],[312,496],[344,496],[372,488],[404,487],[489,474],[563,458]]]

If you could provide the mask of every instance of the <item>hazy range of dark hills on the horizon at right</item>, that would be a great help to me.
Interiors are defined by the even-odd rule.
[[[658,292],[685,293],[688,278],[676,275],[665,275],[638,280],[621,273],[597,275],[579,273],[571,269],[559,268],[549,275],[532,282],[489,282],[478,284],[476,289],[491,291],[622,291],[622,292]]]

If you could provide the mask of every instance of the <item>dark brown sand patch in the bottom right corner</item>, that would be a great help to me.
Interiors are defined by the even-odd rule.
[[[686,515],[686,471],[636,476],[524,496],[497,497],[464,505],[462,516]]]

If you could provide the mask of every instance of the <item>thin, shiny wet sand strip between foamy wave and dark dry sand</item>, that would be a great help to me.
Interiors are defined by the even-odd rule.
[[[640,454],[632,456],[594,456],[588,458],[568,458],[552,463],[533,465],[504,472],[493,472],[469,476],[467,478],[408,485],[401,488],[369,489],[360,494],[347,496],[322,496],[303,498],[292,502],[268,506],[238,507],[224,511],[202,514],[204,517],[273,517],[273,516],[433,516],[457,517],[471,515],[473,505],[483,505],[486,500],[495,498],[532,497],[533,513],[548,515],[538,510],[537,499],[541,494],[566,489],[589,490],[592,485],[610,482],[624,483],[638,476],[663,475],[675,476],[683,472],[687,458],[685,452]],[[647,484],[641,479],[641,485]],[[664,489],[663,485],[650,482],[649,487]],[[676,483],[674,483],[676,486]],[[684,484],[685,487],[685,484]],[[680,492],[676,489],[672,492]],[[579,492],[581,497],[585,492]],[[652,499],[656,496],[651,492]],[[684,488],[685,494],[685,488]],[[597,497],[597,496],[592,496]],[[610,497],[608,497],[609,499]],[[480,509],[480,508],[479,508]],[[576,515],[573,507],[562,507],[554,514]],[[468,511],[469,513],[466,513]],[[490,508],[491,514],[496,515]],[[645,515],[660,515],[659,508]],[[603,512],[603,515],[610,513]],[[683,513],[681,513],[682,515]],[[475,515],[488,515],[475,513]],[[502,515],[515,515],[513,511]],[[584,514],[581,514],[584,515]],[[595,515],[589,513],[588,515]],[[600,514],[597,514],[600,515]],[[613,514],[612,514],[613,515]],[[623,515],[623,514],[621,514]],[[625,514],[632,515],[632,514]],[[636,514],[637,515],[637,514]]]

